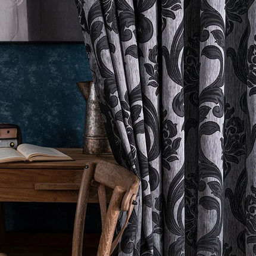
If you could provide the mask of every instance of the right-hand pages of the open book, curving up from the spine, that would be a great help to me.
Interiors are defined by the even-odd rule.
[[[17,151],[24,157],[31,158],[33,156],[45,156],[45,157],[68,157],[55,148],[46,148],[44,146],[36,146],[32,144],[21,144],[18,146]]]

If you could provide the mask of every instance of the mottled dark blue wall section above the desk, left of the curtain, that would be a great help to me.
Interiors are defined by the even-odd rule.
[[[23,143],[80,148],[85,100],[76,82],[90,79],[83,43],[1,44],[0,122],[18,124]]]

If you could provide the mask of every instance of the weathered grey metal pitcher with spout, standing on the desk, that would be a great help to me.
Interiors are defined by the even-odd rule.
[[[86,101],[83,154],[112,154],[94,83],[86,81],[76,84]]]

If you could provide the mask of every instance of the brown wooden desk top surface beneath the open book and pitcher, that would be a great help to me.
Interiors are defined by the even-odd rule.
[[[33,163],[1,163],[0,168],[21,168],[21,169],[72,169],[80,170],[88,162],[95,160],[104,160],[115,163],[113,155],[85,155],[82,153],[82,148],[57,148],[59,151],[70,156],[74,161],[47,161]]]

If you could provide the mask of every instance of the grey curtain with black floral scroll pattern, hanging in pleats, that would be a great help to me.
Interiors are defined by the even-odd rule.
[[[141,181],[118,255],[256,255],[256,1],[76,5],[113,154]]]

